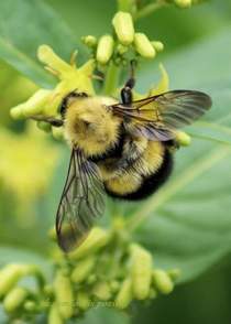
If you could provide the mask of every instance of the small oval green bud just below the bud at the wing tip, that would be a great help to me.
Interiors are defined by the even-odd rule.
[[[73,270],[72,281],[75,283],[80,283],[85,279],[87,279],[89,273],[94,269],[95,263],[96,263],[96,258],[94,256],[90,256],[79,261],[77,266],[75,267],[75,269]]]

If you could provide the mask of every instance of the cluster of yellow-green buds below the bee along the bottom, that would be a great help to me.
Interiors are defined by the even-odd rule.
[[[153,266],[152,255],[132,241],[123,225],[119,218],[111,229],[95,227],[68,256],[55,249],[54,280],[48,284],[35,266],[6,266],[0,277],[0,299],[6,312],[12,318],[32,318],[45,312],[48,323],[57,324],[100,304],[127,310],[134,300],[170,293],[179,270],[165,271]],[[37,282],[33,291],[20,283],[28,276]]]

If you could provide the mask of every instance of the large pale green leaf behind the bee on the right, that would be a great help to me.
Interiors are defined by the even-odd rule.
[[[156,267],[182,269],[180,282],[194,279],[230,252],[231,48],[223,48],[230,34],[231,29],[226,30],[164,62],[172,88],[197,88],[211,95],[213,107],[205,121],[186,131],[212,141],[194,139],[191,147],[180,149],[168,184],[139,204],[128,225],[153,251]],[[154,73],[155,67],[150,66],[141,75],[146,87]]]

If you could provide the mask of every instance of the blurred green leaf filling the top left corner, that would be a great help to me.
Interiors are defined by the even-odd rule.
[[[82,57],[73,32],[42,0],[1,1],[0,22],[0,57],[42,87],[51,87],[54,79],[37,62],[41,44],[51,45],[65,60],[76,48]]]

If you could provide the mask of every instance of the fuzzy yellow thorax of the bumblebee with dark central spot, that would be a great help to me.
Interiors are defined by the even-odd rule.
[[[118,139],[120,120],[112,115],[111,98],[77,98],[66,112],[66,137],[72,145],[87,155],[97,155],[108,150]]]

